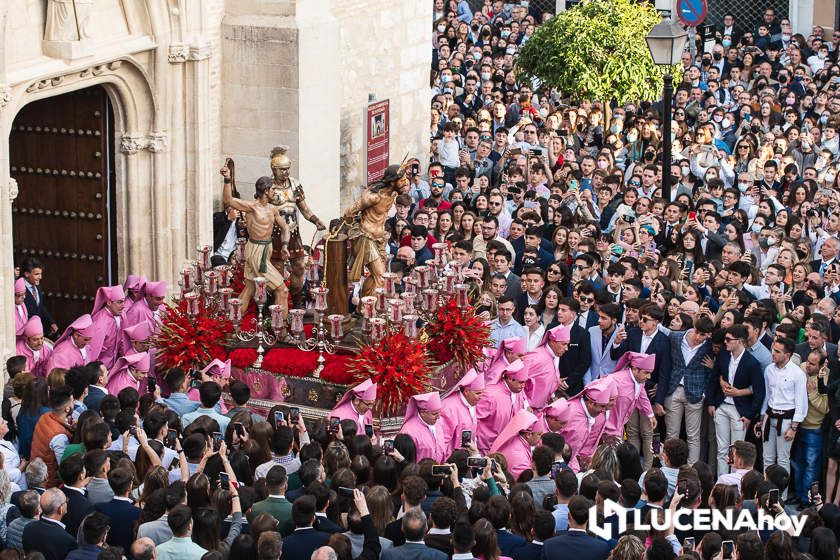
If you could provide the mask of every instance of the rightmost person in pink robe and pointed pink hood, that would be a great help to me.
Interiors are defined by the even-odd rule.
[[[629,367],[628,367],[629,366]],[[629,422],[634,410],[650,419],[650,425],[656,429],[656,416],[653,406],[645,391],[645,382],[656,366],[656,355],[626,352],[609,375],[613,379],[617,396],[615,405],[610,410],[604,436],[610,441],[624,440],[624,426]]]

